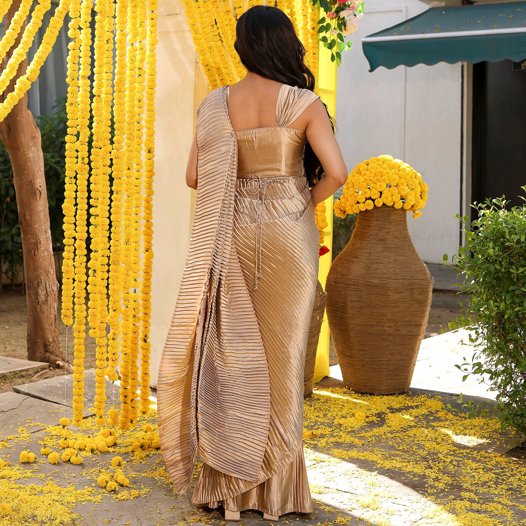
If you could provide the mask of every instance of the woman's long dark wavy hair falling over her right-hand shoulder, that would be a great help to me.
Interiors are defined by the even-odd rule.
[[[256,5],[243,13],[236,24],[234,48],[241,63],[252,73],[314,91],[316,80],[305,65],[305,47],[281,9]],[[330,116],[329,119],[334,130],[334,121]],[[304,165],[307,181],[314,186],[324,172],[309,143],[305,145]]]

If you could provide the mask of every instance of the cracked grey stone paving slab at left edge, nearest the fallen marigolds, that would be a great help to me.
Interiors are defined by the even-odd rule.
[[[0,393],[0,439],[25,427],[29,433],[55,425],[64,414],[64,406],[18,393]],[[91,416],[93,413],[90,413]]]

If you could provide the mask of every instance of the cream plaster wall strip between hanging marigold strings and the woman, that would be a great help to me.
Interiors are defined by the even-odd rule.
[[[185,171],[194,134],[196,52],[179,0],[159,2],[158,38],[150,336],[152,386],[157,385],[161,352],[190,237],[191,192],[185,184]]]

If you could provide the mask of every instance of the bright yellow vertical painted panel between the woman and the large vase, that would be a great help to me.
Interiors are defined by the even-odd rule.
[[[330,51],[319,46],[319,78],[318,78],[318,93],[321,100],[327,104],[329,114],[331,117],[336,115],[336,83],[337,83],[337,66],[336,62],[331,62]],[[325,289],[325,282],[329,268],[332,261],[332,204],[333,199],[330,196],[325,205],[327,208],[327,229],[323,232],[325,240],[323,244],[329,248],[328,254],[321,256],[320,267],[318,271],[318,279]],[[316,366],[314,369],[314,382],[319,382],[324,376],[329,375],[329,323],[327,321],[327,312],[323,316],[321,324],[320,339],[318,341],[318,349],[316,352]]]

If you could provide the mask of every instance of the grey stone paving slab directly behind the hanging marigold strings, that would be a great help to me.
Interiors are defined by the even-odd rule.
[[[95,403],[95,370],[84,371],[84,408],[92,408]],[[47,400],[73,407],[73,375],[55,376],[33,383],[24,383],[13,387],[13,391],[21,395],[31,396],[40,400]],[[119,388],[106,380],[106,396],[111,404],[113,399],[119,399]],[[93,414],[93,413],[92,413]],[[86,414],[84,418],[86,418]]]

